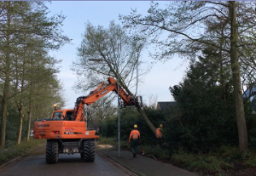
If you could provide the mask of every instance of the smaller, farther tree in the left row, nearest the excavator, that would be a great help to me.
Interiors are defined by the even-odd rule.
[[[29,140],[31,122],[38,119],[38,115],[50,116],[52,105],[63,101],[61,100],[63,96],[61,96],[61,82],[56,76],[59,70],[55,68],[55,64],[60,63],[60,60],[49,57],[42,48],[26,48],[26,52],[27,69],[23,78],[26,79],[24,104],[28,116],[26,140]],[[37,106],[41,106],[41,109],[37,110]],[[26,112],[24,112],[25,116]]]

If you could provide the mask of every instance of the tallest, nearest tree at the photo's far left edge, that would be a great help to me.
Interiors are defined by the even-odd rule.
[[[3,99],[1,114],[0,147],[4,148],[6,116],[10,94],[10,82],[15,68],[15,57],[26,60],[26,47],[44,48],[45,50],[58,49],[70,39],[61,35],[64,16],[54,15],[47,17],[48,11],[44,2],[1,2],[0,3],[0,54],[3,58]],[[37,40],[28,40],[37,38]],[[24,51],[25,49],[25,51]],[[20,52],[19,51],[24,51]],[[23,54],[23,55],[22,55]],[[22,57],[23,56],[23,57]],[[18,69],[19,70],[19,69]],[[16,71],[18,71],[16,70]],[[23,78],[18,83],[25,82]],[[21,103],[21,101],[19,101]],[[21,105],[21,104],[20,104]],[[20,106],[19,106],[20,108]],[[23,115],[22,115],[23,116]]]

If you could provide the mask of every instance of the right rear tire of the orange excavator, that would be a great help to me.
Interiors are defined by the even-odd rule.
[[[95,144],[94,140],[84,141],[84,162],[94,162],[95,160]]]

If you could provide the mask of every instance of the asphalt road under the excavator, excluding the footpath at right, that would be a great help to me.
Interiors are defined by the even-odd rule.
[[[45,156],[27,156],[14,166],[0,173],[1,176],[119,176],[119,170],[101,156],[96,155],[95,162],[83,162],[79,154],[60,154],[59,161],[47,164]]]

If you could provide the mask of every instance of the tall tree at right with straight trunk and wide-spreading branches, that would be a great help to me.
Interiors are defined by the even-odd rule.
[[[160,47],[152,54],[157,60],[171,59],[173,54],[195,56],[198,46],[212,46],[218,48],[219,53],[229,55],[232,68],[232,81],[236,101],[236,119],[241,151],[247,150],[247,128],[243,111],[241,94],[240,65],[237,49],[254,48],[255,46],[255,12],[252,3],[245,2],[171,2],[166,9],[159,9],[158,3],[151,3],[148,15],[137,14],[133,10],[131,15],[120,16],[128,28],[134,28],[145,37],[151,38],[151,43]],[[237,21],[235,20],[237,19]],[[212,27],[206,26],[209,21]],[[220,36],[212,36],[219,24],[228,24]],[[207,29],[207,31],[206,31]],[[162,33],[167,36],[160,37]],[[229,39],[227,45],[216,43],[219,40]],[[241,51],[241,50],[240,50]],[[244,51],[242,51],[244,52]]]

